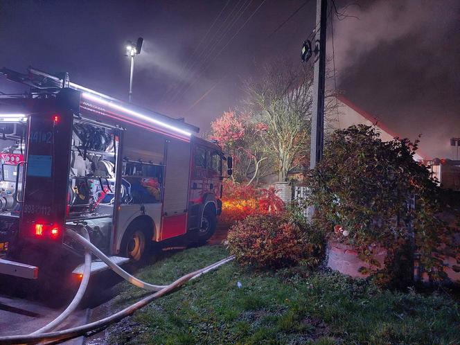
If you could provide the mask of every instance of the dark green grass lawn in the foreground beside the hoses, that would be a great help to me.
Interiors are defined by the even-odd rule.
[[[177,252],[136,276],[163,284],[226,257],[220,246]],[[238,288],[237,282],[242,284]],[[145,295],[121,283],[114,308]],[[229,263],[107,330],[108,344],[460,344],[447,294],[379,290],[302,268],[254,273]]]

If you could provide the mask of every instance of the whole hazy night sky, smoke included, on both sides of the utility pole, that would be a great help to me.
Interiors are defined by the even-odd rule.
[[[336,0],[339,10],[349,2]],[[337,87],[401,136],[423,134],[421,149],[431,157],[453,158],[449,139],[460,137],[460,1],[355,3],[346,14],[359,19],[333,17]],[[206,132],[238,105],[242,82],[257,78],[258,67],[280,59],[300,66],[315,6],[315,0],[0,0],[0,67],[68,71],[73,82],[126,99],[125,41],[142,36],[134,103],[185,117]],[[21,89],[1,78],[0,91]]]

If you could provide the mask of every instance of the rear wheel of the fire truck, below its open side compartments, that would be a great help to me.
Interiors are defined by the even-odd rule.
[[[134,261],[148,258],[152,247],[152,232],[147,222],[133,222],[121,241],[120,254]]]

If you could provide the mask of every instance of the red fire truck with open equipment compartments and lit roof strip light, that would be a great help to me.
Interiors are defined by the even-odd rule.
[[[67,73],[0,73],[30,86],[0,95],[1,274],[36,278],[38,267],[82,263],[66,229],[86,229],[117,263],[140,260],[154,242],[212,236],[231,157],[193,135],[199,128]]]

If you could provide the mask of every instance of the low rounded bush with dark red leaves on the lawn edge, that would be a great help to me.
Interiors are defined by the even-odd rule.
[[[230,229],[227,240],[242,265],[286,267],[310,254],[301,229],[287,213],[249,215]]]

